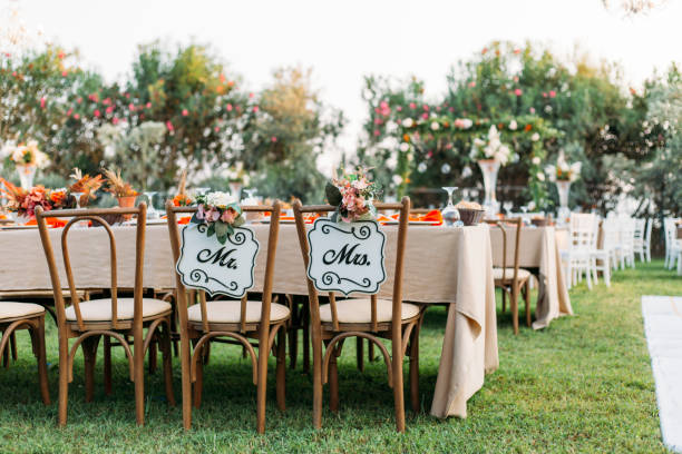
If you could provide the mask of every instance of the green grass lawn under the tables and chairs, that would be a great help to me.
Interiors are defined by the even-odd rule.
[[[469,401],[467,420],[428,415],[446,322],[444,308],[429,309],[420,339],[423,411],[408,411],[403,435],[394,433],[383,364],[359,373],[354,343],[347,343],[340,362],[340,412],[325,407],[321,431],[311,426],[311,377],[299,367],[288,369],[284,413],[276,409],[271,375],[266,434],[257,435],[251,366],[238,347],[224,345],[212,352],[192,431],[182,428],[179,407],[166,405],[160,373],[147,378],[147,425],[136,426],[133,384],[120,349],[114,395],[104,394],[99,358],[90,404],[84,403],[82,361],[77,358],[69,422],[59,430],[56,403],[46,407],[40,401],[36,363],[22,333],[18,363],[0,369],[0,452],[665,452],[642,327],[640,299],[646,294],[680,295],[682,278],[661,261],[637,263],[636,270],[616,273],[611,289],[603,283],[593,292],[584,284],[575,287],[574,317],[540,332],[524,327],[518,336],[508,313],[498,310],[499,369]],[[56,402],[57,330],[48,325]],[[177,359],[174,375],[179,399]]]

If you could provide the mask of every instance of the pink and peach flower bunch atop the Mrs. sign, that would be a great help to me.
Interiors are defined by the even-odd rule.
[[[380,187],[369,181],[366,169],[358,169],[354,174],[345,171],[339,178],[327,184],[324,193],[330,205],[337,207],[332,220],[339,217],[344,223],[371,220],[377,216],[372,200],[379,195]]]

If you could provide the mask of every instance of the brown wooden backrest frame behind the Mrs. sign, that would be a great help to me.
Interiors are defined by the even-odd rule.
[[[308,264],[310,261],[310,246],[308,244],[308,236],[305,235],[305,221],[303,215],[306,213],[314,214],[329,214],[337,207],[331,205],[311,205],[303,206],[300,200],[294,201],[294,219],[296,221],[296,230],[299,234],[299,243],[301,245],[301,254],[303,256],[303,264],[305,270],[308,270]],[[400,203],[394,204],[381,204],[376,203],[374,208],[377,211],[386,210],[399,210],[400,218],[398,219],[398,239],[396,250],[396,267],[393,270],[393,293],[392,293],[392,316],[391,326],[392,329],[397,329],[400,333],[400,324],[402,320],[402,274],[405,268],[405,245],[407,243],[407,229],[410,214],[410,198],[403,197]],[[308,274],[306,274],[308,276]],[[308,280],[308,294],[310,298],[310,312],[312,323],[320,323],[320,300],[318,297],[318,289],[313,285],[312,280],[306,277]],[[377,330],[377,295],[370,295],[371,304],[371,328]],[[329,303],[332,315],[332,327],[334,330],[339,330],[339,317],[337,313],[337,297],[334,292],[329,293]]]

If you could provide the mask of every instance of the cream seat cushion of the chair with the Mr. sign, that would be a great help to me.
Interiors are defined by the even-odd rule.
[[[260,323],[263,303],[246,302],[246,316],[244,323]],[[208,323],[241,323],[242,302],[208,302],[206,303],[206,318]],[[281,322],[289,317],[289,307],[281,304],[270,304],[270,322]],[[202,305],[195,304],[187,308],[189,322],[202,322]]]

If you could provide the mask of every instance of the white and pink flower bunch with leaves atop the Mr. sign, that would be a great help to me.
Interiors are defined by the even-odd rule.
[[[206,225],[206,235],[215,235],[221,244],[225,244],[227,236],[234,234],[234,228],[244,224],[242,208],[230,193],[207,193],[196,196],[198,208],[192,219],[193,224]]]

